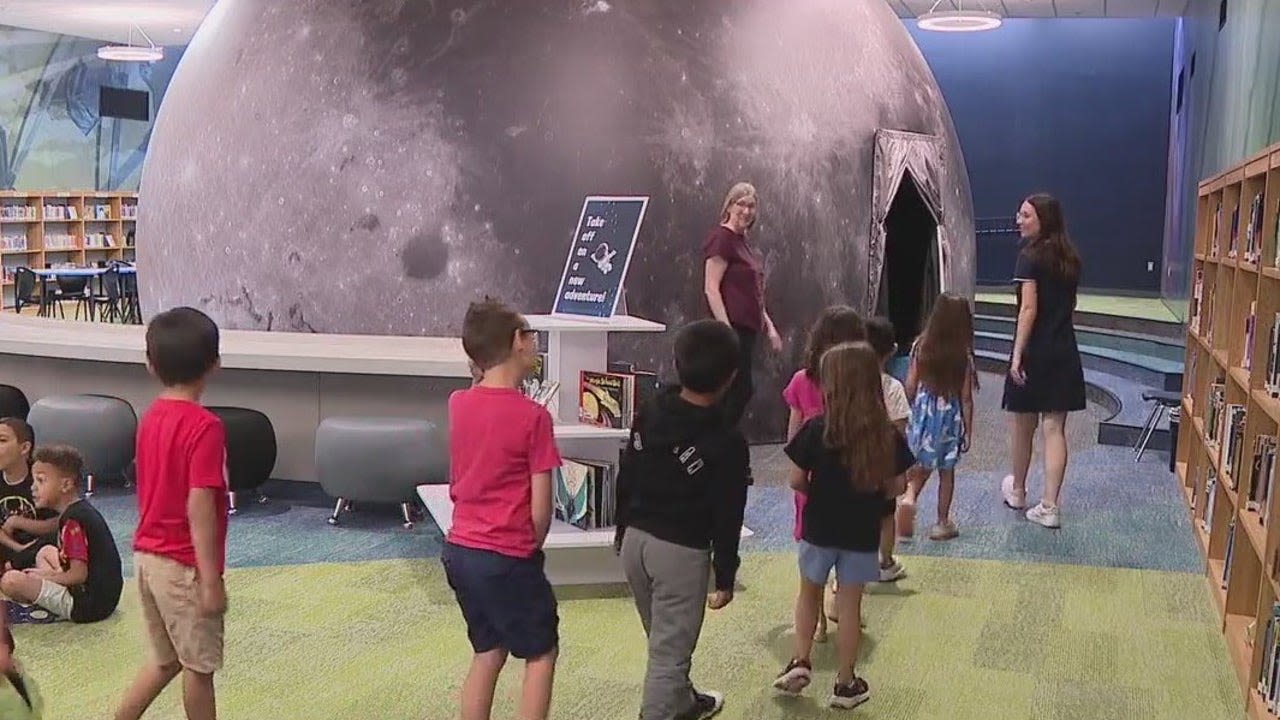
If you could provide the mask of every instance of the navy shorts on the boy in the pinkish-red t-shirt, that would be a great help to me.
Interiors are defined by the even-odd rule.
[[[502,648],[531,660],[556,650],[559,615],[540,550],[511,557],[447,542],[440,560],[476,653]]]

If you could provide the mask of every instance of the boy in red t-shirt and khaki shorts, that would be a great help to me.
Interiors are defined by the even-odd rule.
[[[214,720],[223,665],[227,436],[200,404],[218,368],[218,325],[175,307],[147,325],[147,368],[164,389],[138,421],[133,565],[151,646],[115,720],[137,720],[178,673],[188,720]]]

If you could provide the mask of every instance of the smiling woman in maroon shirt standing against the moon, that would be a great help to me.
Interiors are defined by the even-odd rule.
[[[741,356],[737,375],[724,396],[724,414],[737,425],[751,400],[751,356],[763,332],[774,352],[782,350],[769,313],[764,309],[764,272],[760,258],[746,242],[746,231],[755,224],[755,188],[740,182],[730,188],[721,208],[721,223],[707,236],[703,255],[707,272],[703,292],[717,320],[737,331]]]

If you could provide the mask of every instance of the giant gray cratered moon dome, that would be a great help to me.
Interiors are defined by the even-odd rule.
[[[787,347],[749,428],[777,437],[812,320],[867,309],[878,128],[938,138],[947,286],[972,293],[951,118],[883,3],[223,0],[156,119],[141,296],[228,328],[457,334],[485,293],[549,310],[584,196],[646,195],[627,309],[673,332],[708,315],[703,240],[749,181]],[[666,373],[671,340],[611,351]]]

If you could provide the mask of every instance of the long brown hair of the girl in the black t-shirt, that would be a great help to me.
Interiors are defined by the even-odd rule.
[[[840,452],[850,483],[877,492],[893,477],[897,430],[884,410],[881,365],[865,342],[842,342],[822,356],[823,443]]]

